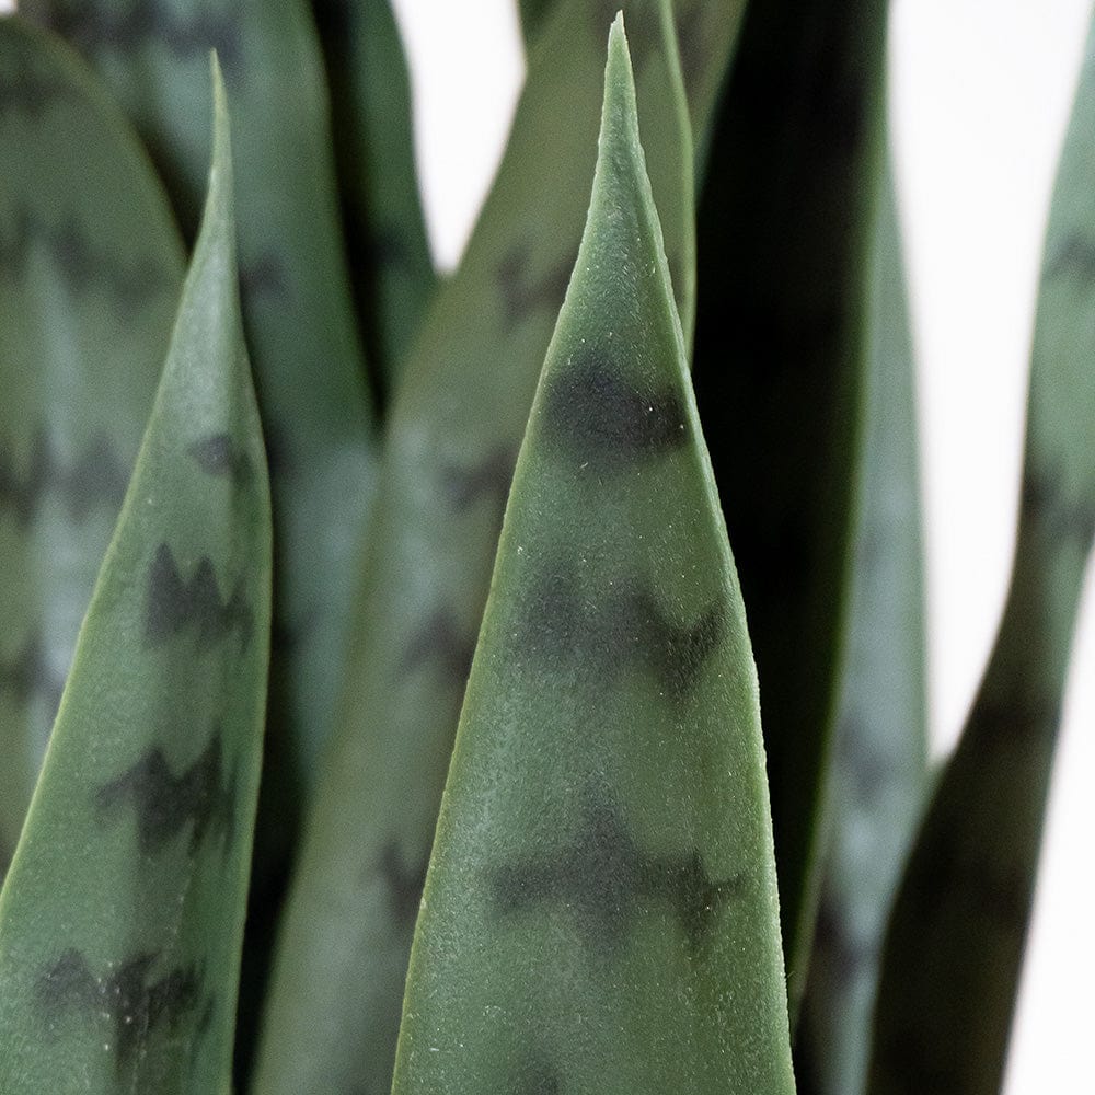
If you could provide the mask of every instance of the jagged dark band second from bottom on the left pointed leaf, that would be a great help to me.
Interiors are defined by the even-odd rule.
[[[235,808],[235,776],[224,770],[220,730],[215,730],[201,756],[175,775],[159,746],[149,749],[139,761],[95,794],[100,819],[132,807],[137,816],[140,850],[155,855],[187,826],[191,852],[206,833],[223,839],[227,849],[232,838]]]

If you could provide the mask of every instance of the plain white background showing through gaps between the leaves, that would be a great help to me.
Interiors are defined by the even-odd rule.
[[[0,10],[10,7],[0,0]],[[414,67],[435,255],[451,267],[523,76],[519,27],[509,0],[395,0],[395,8]],[[960,728],[1003,603],[1041,234],[1090,9],[1091,0],[895,0],[890,114],[920,368],[940,756]],[[1093,1090],[1093,574],[1006,1095]]]

